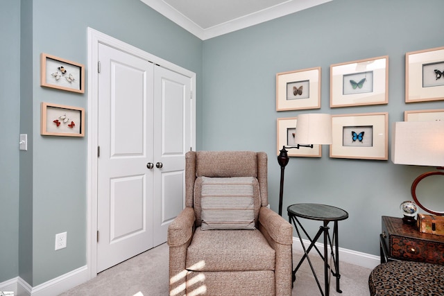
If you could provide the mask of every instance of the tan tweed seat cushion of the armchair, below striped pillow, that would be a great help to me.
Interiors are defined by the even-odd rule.
[[[196,228],[187,249],[187,270],[275,270],[275,250],[259,230]]]

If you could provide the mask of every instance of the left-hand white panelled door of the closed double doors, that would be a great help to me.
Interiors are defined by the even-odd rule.
[[[153,247],[153,64],[99,44],[97,272]]]

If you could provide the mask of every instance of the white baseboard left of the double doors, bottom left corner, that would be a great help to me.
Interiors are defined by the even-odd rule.
[[[56,296],[88,280],[89,270],[85,265],[35,287],[16,277],[0,283],[0,291],[13,291],[15,296]]]

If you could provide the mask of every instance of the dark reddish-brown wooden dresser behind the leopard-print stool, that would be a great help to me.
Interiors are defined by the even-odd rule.
[[[444,236],[418,232],[402,218],[382,216],[381,263],[393,260],[444,265]]]

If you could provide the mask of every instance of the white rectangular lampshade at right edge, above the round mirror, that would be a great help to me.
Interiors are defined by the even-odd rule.
[[[444,166],[444,121],[393,123],[393,164]]]

